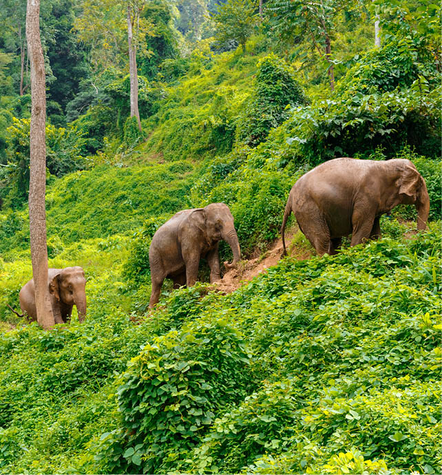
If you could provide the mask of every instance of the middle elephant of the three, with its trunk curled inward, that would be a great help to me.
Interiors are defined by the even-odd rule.
[[[224,203],[179,211],[163,224],[152,237],[149,248],[152,281],[149,308],[158,302],[165,278],[173,280],[173,288],[195,284],[201,257],[209,264],[210,282],[219,281],[220,240],[227,241],[233,251],[232,264],[224,262],[224,266],[231,268],[240,260],[241,250],[233,216]]]

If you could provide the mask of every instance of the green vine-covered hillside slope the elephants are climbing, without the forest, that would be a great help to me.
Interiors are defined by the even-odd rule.
[[[441,471],[441,97],[407,45],[399,64],[393,40],[353,59],[331,96],[298,89],[262,39],[249,56],[203,44],[149,85],[147,136],[101,137],[89,169],[49,177],[50,266],[85,269],[84,324],[12,315],[28,217],[0,213],[1,473]],[[318,258],[293,226],[280,260],[291,186],[350,154],[412,160],[428,231],[398,207],[381,240]],[[209,202],[229,205],[244,260],[221,286],[166,282],[147,310],[152,235]]]

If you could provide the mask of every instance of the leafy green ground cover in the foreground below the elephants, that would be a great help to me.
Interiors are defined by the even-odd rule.
[[[85,324],[1,335],[1,471],[439,472],[439,224],[174,291],[137,324],[119,252]]]

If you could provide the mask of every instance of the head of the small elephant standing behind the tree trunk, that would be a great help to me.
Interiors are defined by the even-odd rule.
[[[78,320],[86,315],[85,273],[81,267],[65,267],[54,275],[49,283],[49,291],[61,304],[76,305]]]

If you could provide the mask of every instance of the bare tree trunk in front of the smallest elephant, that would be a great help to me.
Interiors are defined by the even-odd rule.
[[[28,0],[26,37],[31,63],[29,224],[37,321],[46,330],[55,324],[48,286],[46,247],[46,87],[40,39],[40,0]]]

